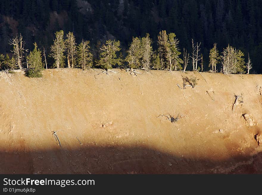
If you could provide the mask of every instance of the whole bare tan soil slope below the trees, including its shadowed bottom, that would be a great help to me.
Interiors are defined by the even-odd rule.
[[[0,173],[262,173],[262,75],[117,71],[1,73]]]

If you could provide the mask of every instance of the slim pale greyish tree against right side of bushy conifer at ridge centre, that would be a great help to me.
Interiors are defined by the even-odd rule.
[[[142,63],[143,69],[148,70],[151,65],[152,58],[152,39],[149,38],[149,34],[146,33],[146,36],[141,39],[141,52],[142,52]]]

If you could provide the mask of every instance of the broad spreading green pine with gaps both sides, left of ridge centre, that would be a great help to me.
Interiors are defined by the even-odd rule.
[[[121,50],[119,46],[119,41],[107,40],[100,48],[102,52],[99,54],[100,59],[96,61],[97,65],[108,70],[112,69],[113,65],[119,64],[119,58],[116,55],[116,52]]]

